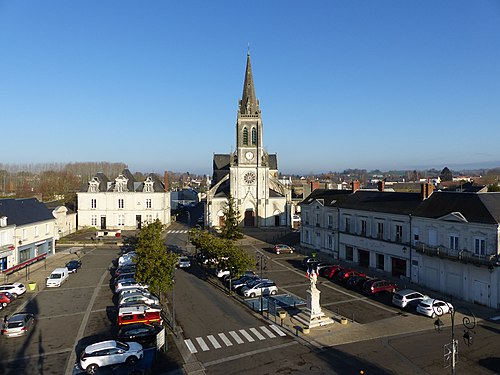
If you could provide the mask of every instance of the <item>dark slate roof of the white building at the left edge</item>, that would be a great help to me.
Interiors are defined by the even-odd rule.
[[[36,198],[0,199],[0,216],[7,216],[8,225],[54,220],[52,211]]]

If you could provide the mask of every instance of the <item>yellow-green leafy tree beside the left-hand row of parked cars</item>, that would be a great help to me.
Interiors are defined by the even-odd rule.
[[[167,252],[164,230],[165,226],[156,219],[141,228],[135,245],[135,277],[160,295],[173,288],[173,274],[178,260],[175,253]]]

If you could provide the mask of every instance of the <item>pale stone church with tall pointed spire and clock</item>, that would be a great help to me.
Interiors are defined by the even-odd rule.
[[[236,121],[236,150],[214,154],[211,187],[207,193],[206,223],[220,227],[224,207],[231,196],[244,227],[289,227],[291,191],[278,180],[278,157],[263,147],[259,101],[247,54],[243,95]]]

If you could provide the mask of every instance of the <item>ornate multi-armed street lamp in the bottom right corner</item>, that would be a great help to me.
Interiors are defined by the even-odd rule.
[[[446,312],[445,309],[443,309],[442,305],[435,304],[436,300],[432,301],[432,310],[434,312],[434,316],[437,316],[438,318],[434,322],[434,329],[440,333],[441,332],[441,327],[444,326],[444,323],[441,319],[439,319],[441,316],[443,316]],[[446,302],[445,302],[446,303]],[[455,339],[455,314],[456,310],[451,306],[451,304],[446,303],[448,305],[448,308],[450,310],[450,315],[451,315],[451,344],[446,344],[445,345],[445,360],[449,361],[451,360],[451,374],[455,375],[456,371],[456,364],[457,364],[457,354],[458,354],[458,340]],[[463,339],[464,342],[467,346],[472,345],[472,335],[474,331],[474,327],[476,326],[476,316],[470,311],[469,314],[472,316],[467,316],[465,315],[462,319],[462,324],[465,327]],[[451,345],[451,350],[450,350],[450,345]]]

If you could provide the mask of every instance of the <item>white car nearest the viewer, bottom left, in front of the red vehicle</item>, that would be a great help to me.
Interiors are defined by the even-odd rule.
[[[103,341],[89,345],[80,355],[80,367],[95,374],[99,367],[118,363],[134,364],[143,357],[142,345],[136,342]]]

